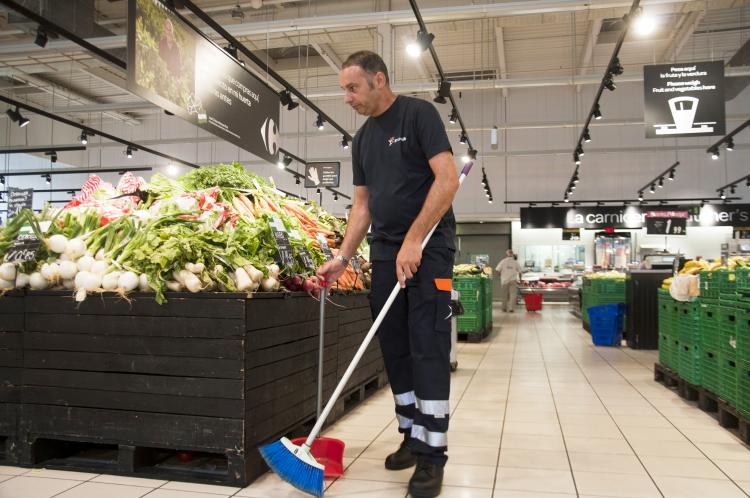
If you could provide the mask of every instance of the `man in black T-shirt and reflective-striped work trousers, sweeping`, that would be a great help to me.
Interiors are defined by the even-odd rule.
[[[380,56],[350,55],[339,80],[344,102],[368,119],[353,140],[354,202],[346,235],[339,255],[318,275],[335,282],[372,226],[373,316],[397,281],[402,287],[378,330],[404,435],[385,467],[416,464],[410,495],[434,497],[447,461],[456,165],[437,110],[424,100],[394,95]]]

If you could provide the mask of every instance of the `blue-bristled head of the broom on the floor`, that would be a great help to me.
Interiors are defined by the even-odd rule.
[[[305,457],[315,461],[306,448],[295,446],[288,439],[281,438],[261,447],[260,454],[271,470],[283,480],[304,493],[323,497],[323,468],[305,461]]]

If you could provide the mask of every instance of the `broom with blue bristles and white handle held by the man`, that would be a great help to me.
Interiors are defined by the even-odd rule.
[[[469,171],[471,171],[471,167],[473,165],[474,163],[470,161],[466,163],[463,170],[461,170],[461,176],[459,176],[458,178],[459,185],[464,182],[464,179],[466,179],[466,177],[468,176]],[[427,234],[427,237],[425,237],[425,239],[422,241],[422,249],[424,249],[427,243],[430,241],[430,237],[432,237],[433,232],[435,232],[438,223],[440,223],[439,220],[432,227],[430,233]],[[283,480],[304,493],[316,496],[318,498],[321,498],[323,496],[324,467],[323,465],[319,464],[312,456],[310,447],[312,446],[315,438],[318,437],[320,430],[323,428],[323,424],[325,423],[328,415],[333,409],[333,405],[336,403],[339,396],[341,396],[341,392],[344,390],[346,383],[349,382],[349,378],[352,376],[352,373],[354,373],[354,369],[357,368],[359,361],[365,354],[367,346],[370,345],[372,338],[378,331],[380,324],[383,322],[386,313],[388,313],[388,310],[391,308],[393,301],[396,300],[396,296],[398,296],[398,292],[400,290],[401,286],[397,282],[393,287],[391,294],[388,296],[385,305],[383,305],[383,308],[380,310],[380,313],[378,313],[377,318],[375,318],[375,321],[370,327],[370,330],[367,332],[367,335],[362,341],[362,344],[359,346],[359,349],[354,355],[354,358],[349,364],[349,367],[346,369],[346,372],[344,372],[344,376],[341,377],[341,380],[336,386],[336,390],[334,390],[333,394],[331,395],[331,399],[328,400],[325,409],[323,409],[323,413],[318,417],[318,420],[315,422],[315,426],[307,436],[307,440],[305,440],[305,442],[301,446],[297,446],[293,444],[288,438],[282,437],[280,440],[267,444],[260,448],[260,454],[266,461],[268,466],[271,468],[271,470],[273,470]]]

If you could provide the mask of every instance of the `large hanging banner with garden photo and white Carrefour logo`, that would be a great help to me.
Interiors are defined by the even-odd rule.
[[[129,0],[128,90],[276,162],[276,92],[160,0]]]

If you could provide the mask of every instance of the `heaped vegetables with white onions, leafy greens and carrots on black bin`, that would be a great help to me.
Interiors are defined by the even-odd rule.
[[[5,259],[19,231],[43,241],[31,261],[0,265],[0,291],[92,292],[305,291],[317,295],[321,239],[339,245],[346,227],[320,206],[285,195],[237,163],[150,182],[126,173],[117,187],[92,175],[71,202],[22,210],[0,230]],[[274,233],[275,232],[275,233]],[[279,237],[291,255],[280,258]],[[359,265],[357,265],[359,266]],[[350,265],[336,286],[364,289]]]

